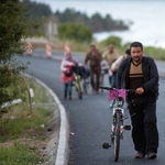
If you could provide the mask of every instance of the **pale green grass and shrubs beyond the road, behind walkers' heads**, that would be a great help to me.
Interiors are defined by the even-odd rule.
[[[113,44],[119,54],[123,55],[125,50],[130,47],[130,43],[122,45],[121,42],[122,38],[118,36],[111,36],[102,42],[97,42],[95,40],[92,40],[91,42],[77,42],[76,40],[61,40],[58,37],[55,37],[54,44],[56,45],[56,47],[54,51],[64,51],[65,44],[69,44],[72,52],[86,54],[87,52],[89,52],[90,45],[96,44],[98,50],[103,53],[105,51],[108,51],[109,44]],[[144,56],[153,57],[156,61],[165,61],[165,48],[144,46],[143,52]]]

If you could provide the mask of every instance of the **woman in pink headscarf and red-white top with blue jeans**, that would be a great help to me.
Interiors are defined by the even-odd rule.
[[[64,98],[67,99],[67,94],[69,94],[69,99],[72,99],[72,86],[75,79],[73,66],[78,64],[77,61],[73,59],[72,53],[67,52],[66,57],[62,59],[61,69],[63,74],[61,80],[64,82]]]

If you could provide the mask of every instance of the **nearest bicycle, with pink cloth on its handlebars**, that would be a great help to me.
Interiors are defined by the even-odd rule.
[[[111,143],[113,144],[114,150],[114,162],[118,162],[119,158],[119,151],[120,151],[120,139],[123,140],[123,130],[131,130],[131,125],[123,125],[123,120],[128,119],[129,117],[124,117],[124,108],[123,103],[127,97],[127,92],[134,92],[134,89],[116,89],[109,87],[100,87],[101,89],[113,91],[110,96],[111,99],[116,100],[117,107],[114,106],[113,101],[113,113],[112,113],[112,128],[111,128],[111,141],[109,143],[103,143],[103,148],[111,147]]]

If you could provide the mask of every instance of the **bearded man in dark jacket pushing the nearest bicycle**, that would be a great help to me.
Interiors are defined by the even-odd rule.
[[[156,125],[156,99],[158,96],[158,73],[153,58],[143,56],[143,45],[130,45],[131,57],[121,62],[118,68],[117,88],[135,89],[128,95],[132,121],[132,139],[138,151],[135,158],[147,154],[148,160],[157,157],[158,131]]]

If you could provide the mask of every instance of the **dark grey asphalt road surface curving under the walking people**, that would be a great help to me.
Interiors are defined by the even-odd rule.
[[[44,53],[43,53],[44,54]],[[59,54],[59,53],[58,53]],[[64,55],[64,54],[63,54]],[[62,56],[62,54],[61,54]],[[46,58],[25,56],[22,62],[31,62],[28,73],[33,72],[33,76],[45,82],[58,96],[66,108],[69,117],[70,131],[70,155],[69,165],[113,165],[113,150],[103,150],[102,143],[109,142],[111,114],[109,108],[108,91],[99,95],[89,94],[78,99],[78,95],[73,88],[73,100],[64,100],[64,85],[61,81],[61,62]],[[106,85],[108,77],[106,76]],[[160,79],[160,99],[157,101],[157,125],[160,131],[158,157],[156,160],[135,160],[136,152],[133,148],[131,132],[124,132],[121,141],[119,165],[163,165],[165,162],[165,78]],[[125,111],[128,114],[128,111]],[[124,121],[130,124],[130,119]]]

